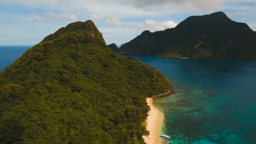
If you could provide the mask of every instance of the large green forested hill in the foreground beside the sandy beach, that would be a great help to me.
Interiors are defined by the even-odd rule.
[[[92,21],[75,22],[0,72],[0,141],[144,143],[146,97],[169,87],[159,71],[112,52]]]

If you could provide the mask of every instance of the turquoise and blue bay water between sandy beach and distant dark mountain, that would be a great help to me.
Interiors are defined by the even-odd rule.
[[[256,61],[135,58],[176,88],[154,100],[174,144],[256,143]]]

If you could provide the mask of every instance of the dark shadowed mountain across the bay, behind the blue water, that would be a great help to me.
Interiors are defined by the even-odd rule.
[[[256,32],[223,12],[190,16],[175,28],[144,31],[118,53],[163,58],[256,59]]]

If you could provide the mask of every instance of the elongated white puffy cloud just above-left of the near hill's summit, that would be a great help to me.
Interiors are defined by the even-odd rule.
[[[74,15],[74,14],[67,14],[67,13],[53,13],[53,12],[48,12],[48,13],[45,13],[45,15],[53,18],[53,19],[56,19],[56,20],[72,20],[72,21],[77,21],[77,16]]]

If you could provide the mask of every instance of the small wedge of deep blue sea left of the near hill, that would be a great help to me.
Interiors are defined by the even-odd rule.
[[[0,46],[0,72],[12,64],[32,46]]]

